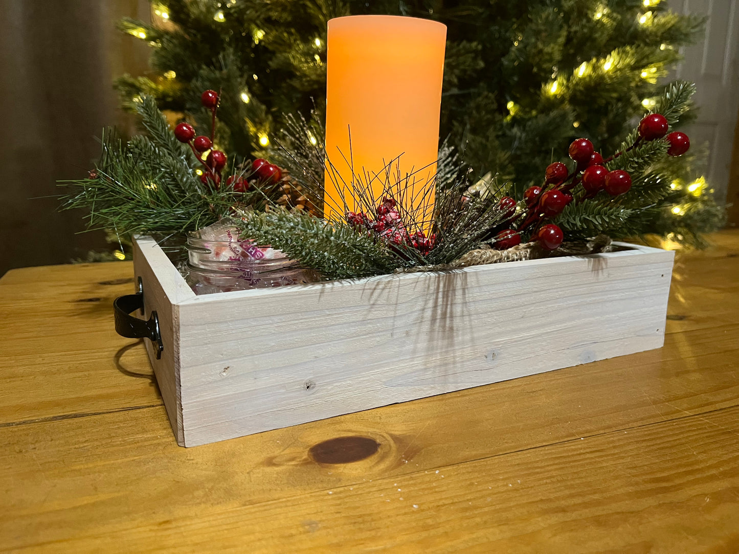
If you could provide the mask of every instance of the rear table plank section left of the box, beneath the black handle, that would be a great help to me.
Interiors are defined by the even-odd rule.
[[[143,347],[113,327],[113,299],[133,290],[123,261],[0,280],[0,425],[161,403]]]

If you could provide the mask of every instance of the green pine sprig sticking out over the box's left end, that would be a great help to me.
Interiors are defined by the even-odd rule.
[[[146,135],[126,142],[107,129],[89,177],[60,183],[71,189],[62,196],[62,209],[89,208],[88,228],[124,236],[184,236],[229,216],[234,206],[263,209],[270,202],[268,190],[235,193],[201,182],[194,154],[174,137],[154,99],[144,96],[137,111]]]

